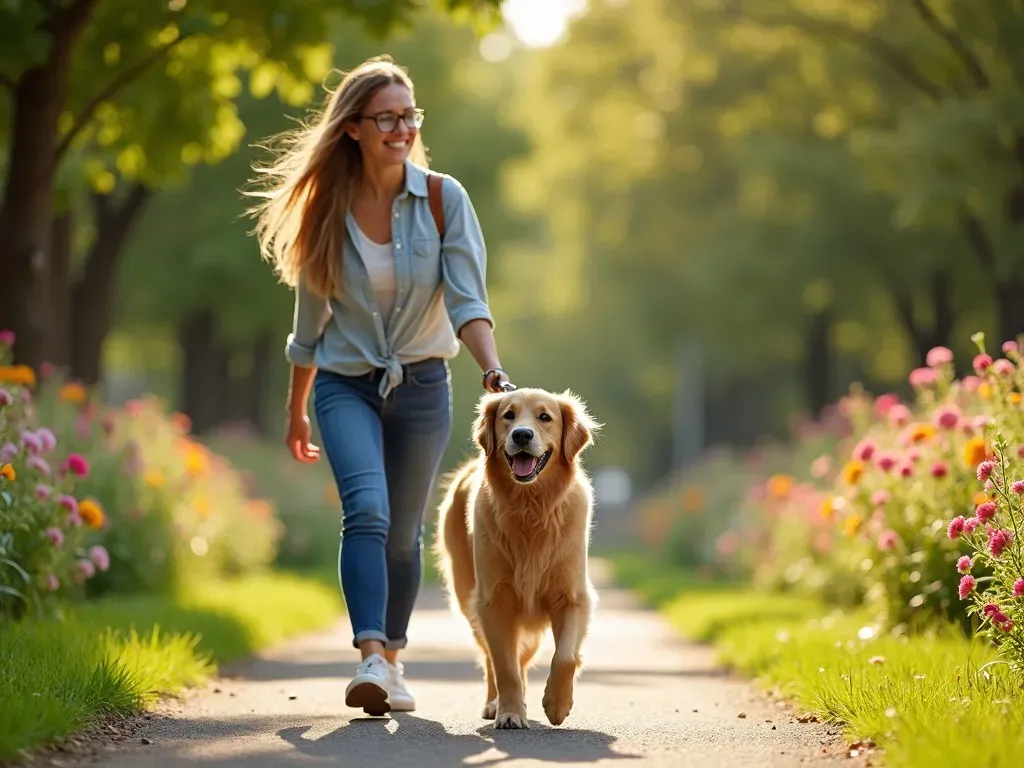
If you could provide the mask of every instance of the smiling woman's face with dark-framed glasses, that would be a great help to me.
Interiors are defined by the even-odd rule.
[[[365,162],[401,165],[419,132],[422,118],[418,115],[409,89],[400,83],[391,83],[374,94],[360,119],[349,127],[349,135],[359,142]]]

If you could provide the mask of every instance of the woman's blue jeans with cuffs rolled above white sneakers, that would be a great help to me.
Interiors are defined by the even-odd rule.
[[[447,364],[404,367],[386,400],[383,371],[313,381],[316,421],[342,506],[338,572],[352,645],[404,648],[423,575],[423,517],[452,431]]]

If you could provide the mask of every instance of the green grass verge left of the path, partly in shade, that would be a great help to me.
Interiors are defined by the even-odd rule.
[[[219,664],[325,627],[323,579],[271,573],[171,597],[83,604],[65,622],[0,627],[0,762],[203,682]]]

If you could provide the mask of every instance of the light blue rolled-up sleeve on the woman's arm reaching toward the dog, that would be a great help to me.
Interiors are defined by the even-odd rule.
[[[494,328],[487,306],[487,251],[480,221],[466,188],[455,178],[444,177],[444,243],[441,247],[444,306],[456,335],[473,319],[485,319]]]

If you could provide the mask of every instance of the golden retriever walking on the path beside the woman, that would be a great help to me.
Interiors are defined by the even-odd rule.
[[[526,671],[551,628],[545,715],[564,722],[598,602],[587,558],[593,487],[580,455],[602,425],[566,390],[484,394],[476,457],[446,478],[434,552],[452,609],[482,651],[483,718],[528,728]]]

